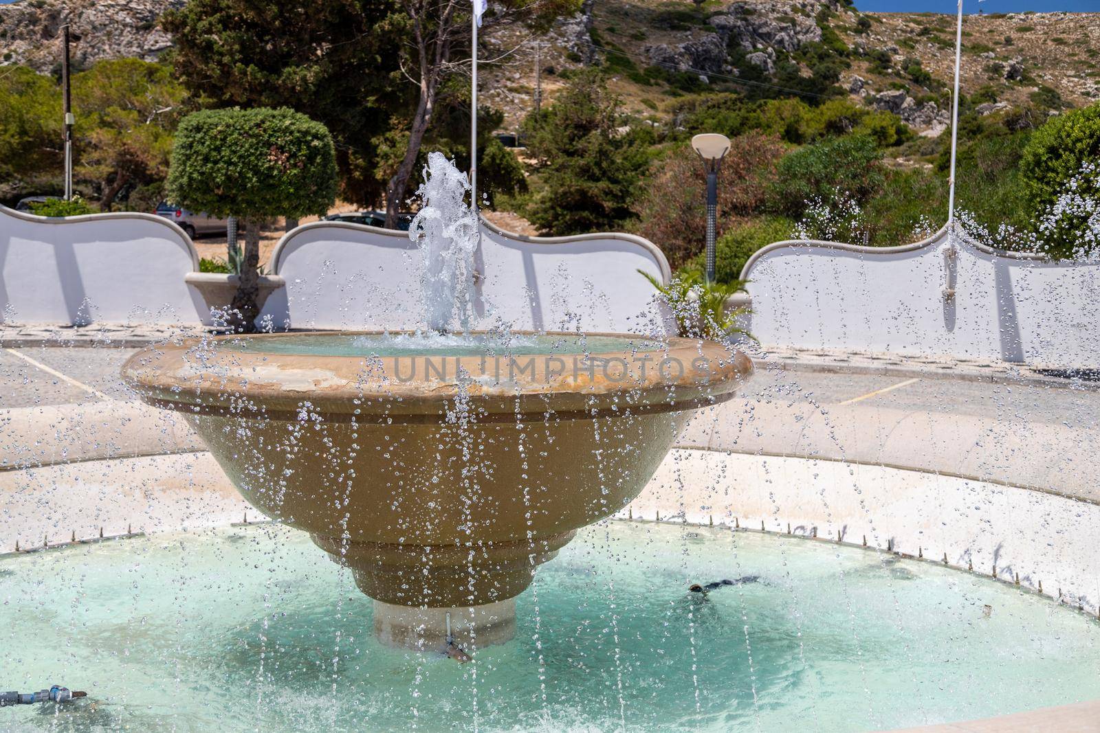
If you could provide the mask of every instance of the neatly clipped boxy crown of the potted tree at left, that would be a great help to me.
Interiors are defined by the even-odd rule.
[[[324,213],[336,199],[332,137],[288,109],[204,110],[176,134],[167,195],[217,216]]]

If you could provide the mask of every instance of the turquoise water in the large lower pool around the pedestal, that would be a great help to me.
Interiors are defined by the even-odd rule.
[[[691,582],[757,576],[706,602]],[[0,559],[0,730],[858,731],[1100,697],[1100,625],[931,563],[670,524],[588,527],[517,637],[381,647],[305,534],[252,525]]]

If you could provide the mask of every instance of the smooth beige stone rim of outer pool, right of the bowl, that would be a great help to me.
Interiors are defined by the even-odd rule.
[[[1100,503],[1100,433],[1011,415],[735,398],[698,411],[678,445],[921,470]]]

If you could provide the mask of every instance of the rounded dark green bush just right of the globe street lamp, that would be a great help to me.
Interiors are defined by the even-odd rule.
[[[789,153],[779,162],[771,186],[771,209],[796,219],[813,200],[826,207],[842,198],[862,203],[882,186],[881,158],[867,135],[849,135]]]

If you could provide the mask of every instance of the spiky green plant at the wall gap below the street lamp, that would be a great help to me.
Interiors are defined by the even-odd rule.
[[[726,300],[745,290],[740,280],[706,284],[697,273],[680,271],[672,276],[669,285],[662,285],[649,273],[638,271],[657,288],[664,304],[672,311],[680,336],[724,341],[738,333],[751,337],[747,331],[737,327],[737,319],[748,313],[748,309],[726,310]]]

